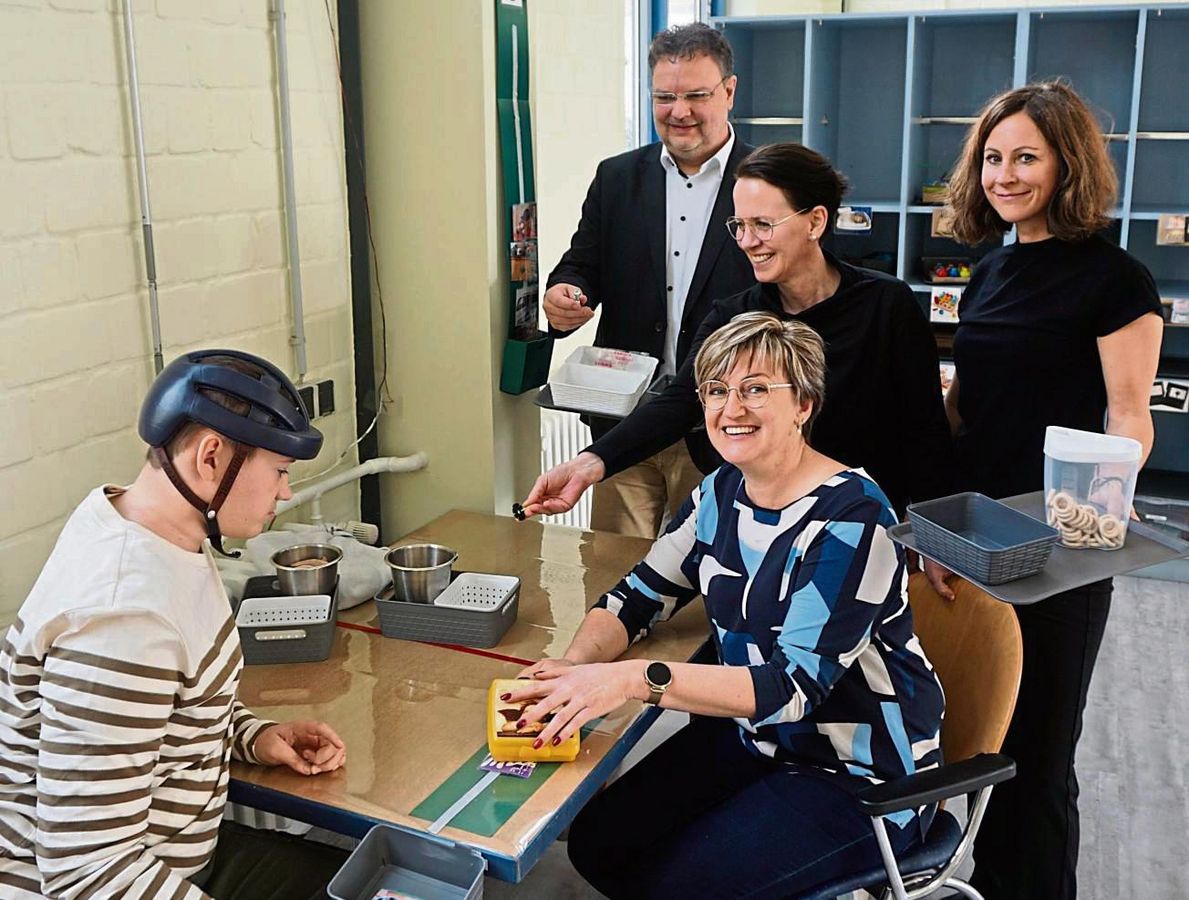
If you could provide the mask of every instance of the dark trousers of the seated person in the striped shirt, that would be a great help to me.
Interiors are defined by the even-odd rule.
[[[215,900],[322,900],[347,852],[224,820],[210,866],[191,881]]]

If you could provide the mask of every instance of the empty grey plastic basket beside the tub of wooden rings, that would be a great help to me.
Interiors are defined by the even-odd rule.
[[[1057,530],[982,493],[908,504],[920,552],[986,585],[1034,575],[1049,561]]]

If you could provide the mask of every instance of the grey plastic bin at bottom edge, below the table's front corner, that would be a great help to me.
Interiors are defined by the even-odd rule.
[[[327,886],[334,900],[372,900],[388,888],[420,900],[483,896],[486,860],[436,835],[376,825]]]

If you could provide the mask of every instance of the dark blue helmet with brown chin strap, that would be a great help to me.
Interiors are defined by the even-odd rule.
[[[262,375],[247,375],[212,358],[249,363]],[[213,390],[249,405],[240,415],[202,394]],[[174,467],[165,445],[185,424],[197,422],[239,445],[231,465],[209,503],[200,498]],[[322,448],[322,433],[310,424],[292,382],[269,360],[237,350],[200,350],[170,363],[149,388],[140,407],[140,438],[178,492],[197,509],[206,522],[212,546],[226,555],[216,515],[231,492],[235,476],[253,447],[270,449],[294,459],[313,459]]]

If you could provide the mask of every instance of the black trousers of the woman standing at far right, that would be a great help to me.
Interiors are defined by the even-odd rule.
[[[1108,579],[1015,608],[1024,672],[1004,741],[1015,778],[995,787],[974,848],[973,883],[987,900],[1077,896],[1074,753],[1111,591]]]

